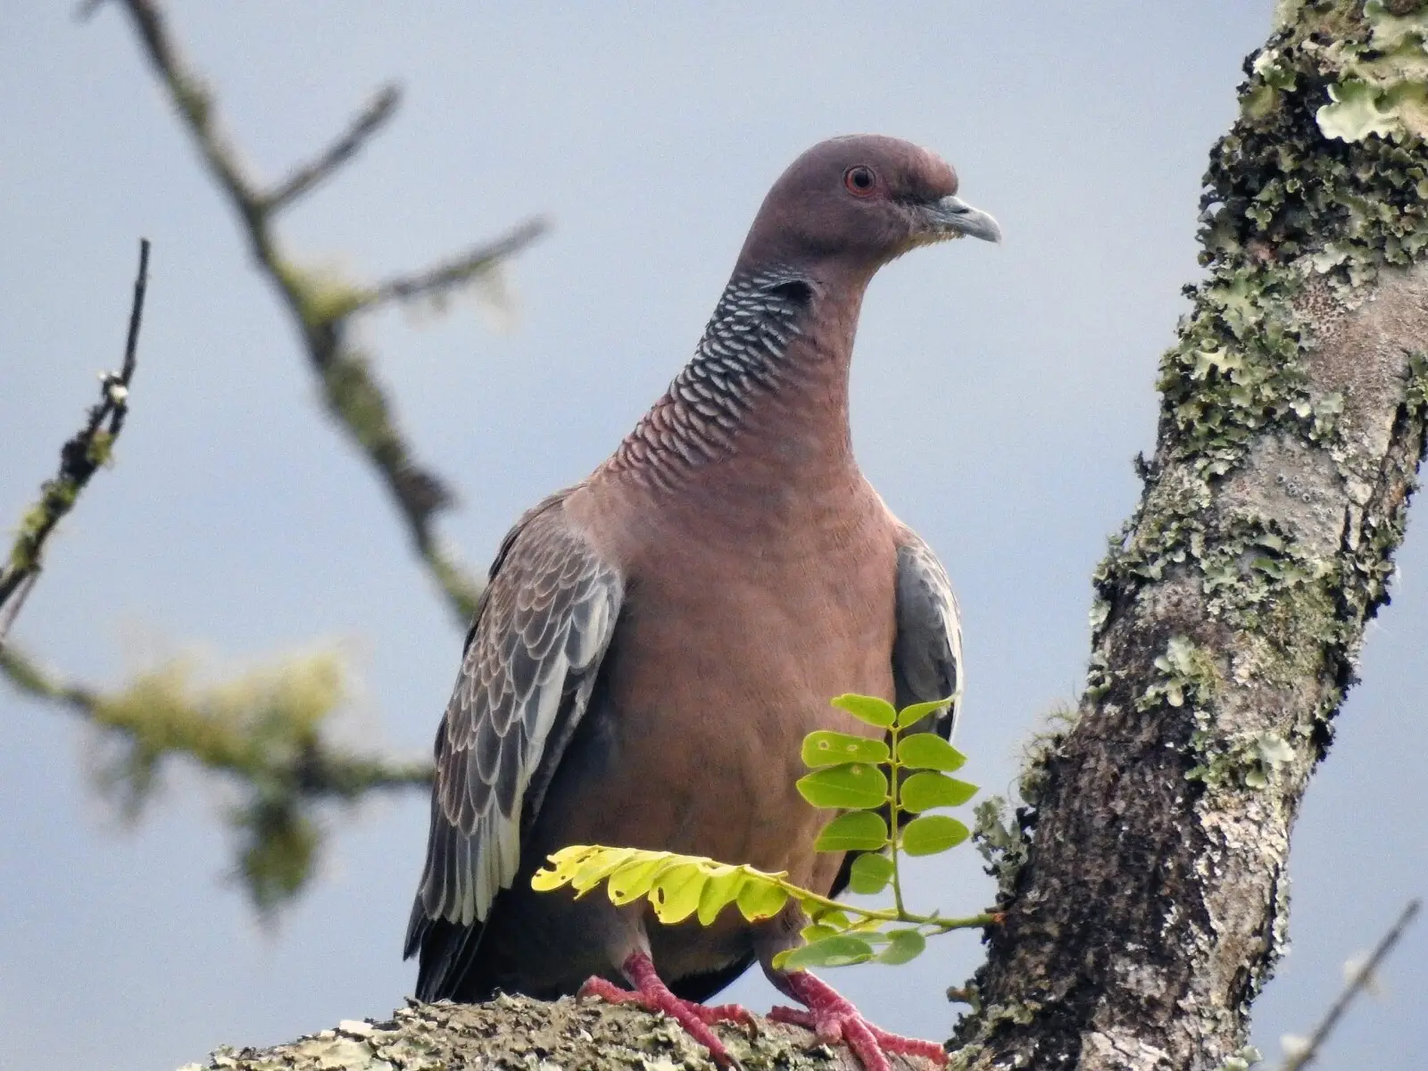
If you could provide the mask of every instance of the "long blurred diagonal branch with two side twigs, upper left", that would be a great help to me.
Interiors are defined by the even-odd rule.
[[[441,477],[417,463],[370,358],[348,343],[346,328],[360,311],[393,301],[440,297],[468,286],[544,233],[544,221],[527,221],[506,237],[481,244],[447,264],[376,287],[334,283],[296,266],[278,247],[273,231],[274,213],[333,174],[381,129],[396,109],[396,89],[378,93],[347,133],[313,163],[297,169],[271,190],[263,190],[220,130],[213,94],[170,39],[160,4],[154,0],[123,0],[123,6],[208,173],[237,211],[254,260],[283,297],[323,384],[328,413],[377,470],[397,504],[413,547],[464,628],[476,610],[481,584],[434,531],[437,513],[451,504],[451,493]]]

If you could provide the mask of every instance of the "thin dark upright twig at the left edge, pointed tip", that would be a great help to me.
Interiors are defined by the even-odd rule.
[[[40,501],[20,521],[20,533],[10,548],[10,564],[0,568],[0,651],[6,634],[20,614],[20,607],[34,587],[43,567],[44,543],[89,484],[90,477],[110,458],[114,440],[129,416],[129,383],[139,360],[139,327],[144,317],[144,290],[149,287],[149,240],[139,240],[139,276],[134,301],[129,310],[129,337],[124,364],[100,380],[100,400],[73,438],[60,448],[60,471],[40,488]]]

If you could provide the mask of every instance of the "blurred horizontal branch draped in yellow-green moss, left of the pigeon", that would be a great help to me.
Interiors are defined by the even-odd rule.
[[[14,648],[0,651],[0,670],[23,694],[101,731],[100,781],[130,815],[164,760],[184,757],[223,774],[238,794],[227,815],[238,834],[237,877],[260,911],[291,898],[311,875],[323,838],[318,805],[431,784],[430,761],[360,755],[324,738],[344,698],[343,667],[328,651],[211,685],[196,680],[191,663],[171,661],[113,693],[66,681]]]

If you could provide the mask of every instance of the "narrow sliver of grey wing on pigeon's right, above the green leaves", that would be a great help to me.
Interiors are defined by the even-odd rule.
[[[904,530],[897,551],[897,637],[892,641],[892,684],[898,708],[952,697],[934,715],[935,731],[951,738],[962,691],[962,625],[947,570],[931,547]]]

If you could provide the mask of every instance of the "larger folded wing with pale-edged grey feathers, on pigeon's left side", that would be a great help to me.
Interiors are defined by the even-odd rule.
[[[516,878],[521,833],[585,711],[620,614],[621,573],[571,524],[563,500],[527,513],[501,544],[437,728],[431,833],[406,948],[423,952],[423,1000],[460,982],[491,901]]]

